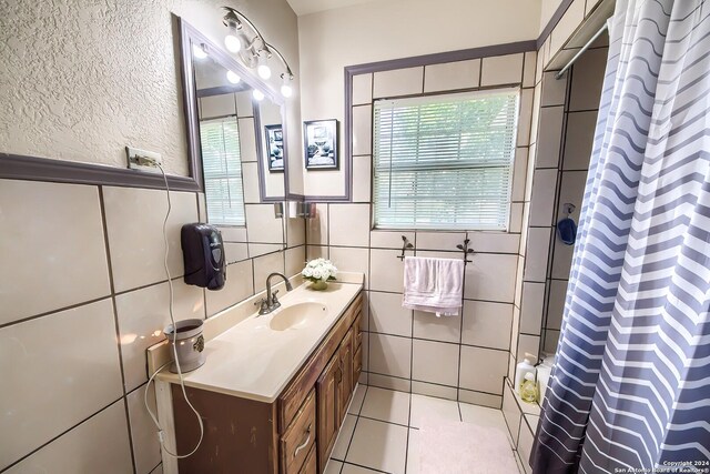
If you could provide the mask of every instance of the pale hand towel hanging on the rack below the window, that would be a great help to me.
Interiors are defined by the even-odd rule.
[[[463,292],[463,260],[404,259],[404,307],[454,316],[462,307]]]

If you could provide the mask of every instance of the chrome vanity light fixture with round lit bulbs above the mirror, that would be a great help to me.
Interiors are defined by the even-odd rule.
[[[271,78],[272,71],[268,67],[268,60],[276,57],[285,69],[285,72],[281,74],[283,80],[281,93],[284,97],[291,97],[293,93],[291,82],[294,75],[284,56],[273,44],[264,40],[258,29],[243,13],[232,7],[222,8],[226,11],[222,23],[230,29],[224,38],[226,49],[239,54],[247,67],[256,68],[256,72],[262,79]]]

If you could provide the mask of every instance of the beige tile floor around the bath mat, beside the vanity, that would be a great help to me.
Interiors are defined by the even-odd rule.
[[[423,415],[500,430],[511,443],[500,410],[361,384],[325,474],[419,474],[416,464]],[[523,472],[519,465],[518,470]]]

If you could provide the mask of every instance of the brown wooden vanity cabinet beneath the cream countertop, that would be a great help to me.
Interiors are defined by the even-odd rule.
[[[358,294],[271,404],[186,387],[205,435],[180,472],[323,473],[362,369],[362,306]],[[178,451],[190,452],[197,422],[180,385],[171,391]]]

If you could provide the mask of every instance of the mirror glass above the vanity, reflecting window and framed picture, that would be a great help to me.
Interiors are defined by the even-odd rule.
[[[283,250],[287,161],[281,97],[181,20],[187,145],[204,184],[206,221],[230,263]]]

